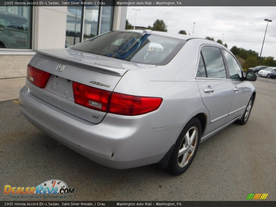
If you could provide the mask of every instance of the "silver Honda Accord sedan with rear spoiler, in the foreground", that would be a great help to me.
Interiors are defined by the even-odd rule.
[[[20,90],[34,126],[111,168],[159,163],[179,175],[200,142],[248,121],[256,74],[223,45],[183,34],[112,31],[37,50]]]

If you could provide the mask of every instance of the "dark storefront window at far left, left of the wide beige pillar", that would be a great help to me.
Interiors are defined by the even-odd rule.
[[[32,49],[32,7],[0,7],[0,49]]]

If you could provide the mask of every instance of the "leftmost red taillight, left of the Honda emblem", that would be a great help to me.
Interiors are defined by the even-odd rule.
[[[50,73],[43,70],[39,70],[30,64],[27,67],[28,80],[39,88],[45,88],[47,81],[49,80]]]

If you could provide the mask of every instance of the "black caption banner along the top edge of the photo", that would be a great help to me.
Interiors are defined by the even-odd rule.
[[[275,0],[1,0],[0,6],[276,6]]]

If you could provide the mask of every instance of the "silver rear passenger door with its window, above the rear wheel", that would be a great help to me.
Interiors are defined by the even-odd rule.
[[[210,114],[206,129],[206,133],[210,133],[225,124],[233,97],[231,80],[227,79],[223,56],[218,47],[201,47],[196,81]]]

